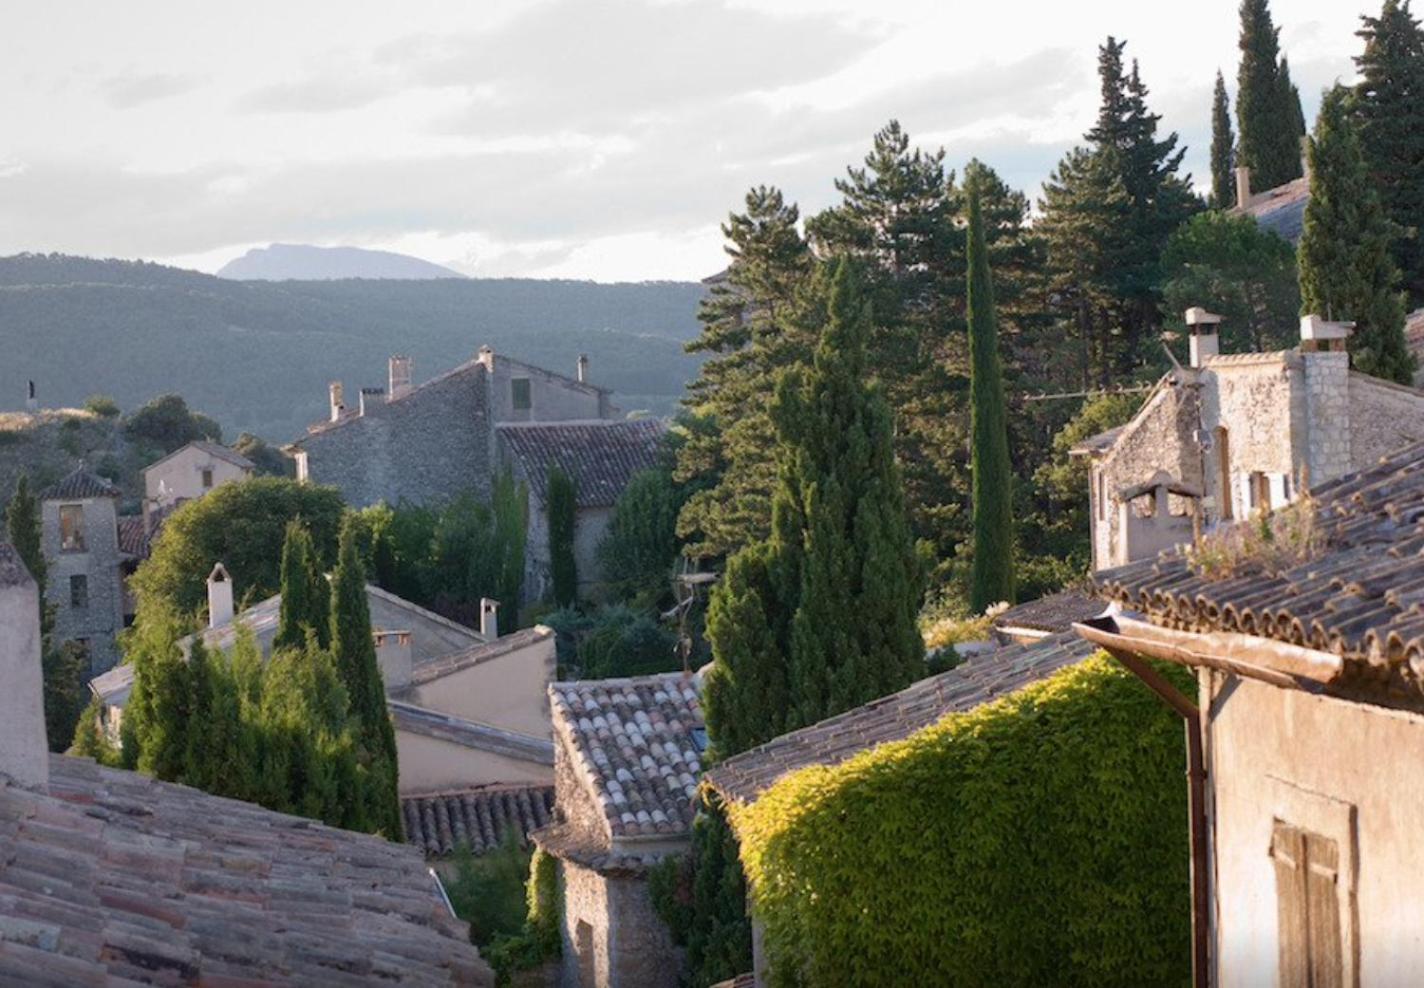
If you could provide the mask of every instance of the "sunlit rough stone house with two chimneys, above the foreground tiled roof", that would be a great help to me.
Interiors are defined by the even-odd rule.
[[[1199,525],[1293,501],[1424,438],[1424,393],[1350,370],[1350,326],[1300,320],[1300,346],[1219,353],[1219,316],[1186,313],[1190,362],[1132,421],[1072,450],[1088,461],[1095,569],[1148,558]]]

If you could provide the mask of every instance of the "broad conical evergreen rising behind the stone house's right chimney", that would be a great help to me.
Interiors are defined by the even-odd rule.
[[[1370,182],[1350,120],[1350,93],[1326,94],[1310,140],[1310,202],[1300,238],[1302,313],[1353,320],[1357,370],[1410,383],[1414,357],[1404,342],[1393,228]]]

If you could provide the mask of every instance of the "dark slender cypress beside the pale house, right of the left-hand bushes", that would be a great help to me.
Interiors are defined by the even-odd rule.
[[[336,572],[332,577],[330,641],[339,682],[356,720],[355,740],[366,767],[366,820],[392,840],[400,839],[396,779],[396,730],[386,709],[386,686],[376,661],[366,602],[366,574],[357,545],[356,518],[342,522]]]

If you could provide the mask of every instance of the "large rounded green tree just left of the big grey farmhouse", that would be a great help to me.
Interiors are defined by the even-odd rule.
[[[239,608],[244,601],[276,594],[286,525],[295,518],[312,534],[316,565],[325,572],[336,558],[343,511],[333,487],[279,477],[222,484],[164,522],[152,555],[130,581],[140,612],[158,599],[182,614],[198,611],[206,604],[206,579],[215,562],[232,577]]]

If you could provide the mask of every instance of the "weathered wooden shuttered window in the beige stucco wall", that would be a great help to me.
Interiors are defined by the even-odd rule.
[[[1280,988],[1344,988],[1340,937],[1340,848],[1320,834],[1276,820]]]

